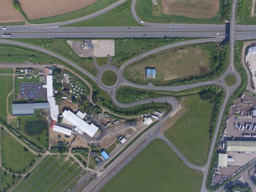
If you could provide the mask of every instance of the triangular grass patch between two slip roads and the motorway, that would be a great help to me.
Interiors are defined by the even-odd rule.
[[[66,26],[141,26],[132,16],[131,2],[132,1],[129,0],[103,15]]]

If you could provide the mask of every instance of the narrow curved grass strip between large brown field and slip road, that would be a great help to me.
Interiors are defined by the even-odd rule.
[[[86,16],[86,15],[90,15],[91,13],[95,13],[97,11],[100,11],[101,9],[104,9],[107,6],[110,6],[111,4],[114,4],[115,2],[117,2],[117,0],[97,1],[94,4],[86,6],[85,8],[79,9],[77,11],[73,11],[73,12],[70,12],[70,13],[63,14],[63,15],[52,16],[52,17],[49,17],[49,18],[29,20],[28,22],[31,23],[31,24],[40,24],[40,23],[63,22],[63,21],[66,21],[66,20],[77,19],[77,18],[81,18],[81,17]]]

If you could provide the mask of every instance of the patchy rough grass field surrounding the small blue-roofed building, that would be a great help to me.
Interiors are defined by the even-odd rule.
[[[155,67],[155,82],[166,82],[176,79],[199,76],[209,73],[211,65],[211,52],[215,44],[208,44],[209,49],[203,46],[187,47],[179,50],[165,50],[146,60],[131,64],[124,70],[124,77],[132,82],[146,83],[145,68]]]

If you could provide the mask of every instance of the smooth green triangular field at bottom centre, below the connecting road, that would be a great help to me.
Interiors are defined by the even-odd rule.
[[[101,191],[200,191],[203,175],[155,140]]]

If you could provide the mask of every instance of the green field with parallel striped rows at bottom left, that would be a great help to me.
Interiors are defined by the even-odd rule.
[[[81,172],[73,158],[49,155],[13,191],[61,191]]]

